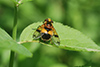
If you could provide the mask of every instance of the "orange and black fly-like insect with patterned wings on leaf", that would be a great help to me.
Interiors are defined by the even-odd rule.
[[[50,41],[51,44],[60,45],[59,36],[53,27],[53,21],[48,18],[39,26],[33,34],[34,39],[41,39],[44,42]]]

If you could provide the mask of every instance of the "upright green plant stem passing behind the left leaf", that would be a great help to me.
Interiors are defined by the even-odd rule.
[[[13,31],[12,31],[12,38],[16,41],[16,36],[17,36],[17,10],[18,10],[18,7],[16,5],[15,5],[14,10],[15,11],[14,11],[14,25],[13,25]],[[13,67],[14,55],[15,55],[15,53],[13,51],[11,51],[9,67]]]

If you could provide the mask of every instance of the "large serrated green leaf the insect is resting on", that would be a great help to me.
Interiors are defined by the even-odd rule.
[[[33,23],[26,27],[20,36],[20,43],[24,42],[38,42],[34,41],[32,36],[35,30],[41,22]],[[100,52],[100,47],[97,46],[90,38],[82,34],[80,31],[70,28],[69,26],[64,26],[61,23],[54,22],[54,27],[60,37],[60,46],[59,48],[74,50],[74,51],[93,51]],[[45,44],[45,43],[42,43]],[[48,46],[53,46],[50,44],[45,44]]]

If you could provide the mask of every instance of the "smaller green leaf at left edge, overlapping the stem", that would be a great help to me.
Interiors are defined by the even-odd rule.
[[[31,57],[32,54],[22,45],[17,44],[4,30],[0,28],[0,48],[10,49],[19,54]]]

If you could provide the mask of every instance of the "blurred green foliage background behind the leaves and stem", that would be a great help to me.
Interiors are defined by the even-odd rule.
[[[23,3],[18,11],[17,40],[26,26],[46,18],[75,28],[100,45],[100,0],[33,0]],[[13,2],[0,0],[0,27],[10,35],[13,20]],[[16,54],[14,67],[100,67],[100,53],[69,51],[32,43],[23,45],[33,53],[33,57]],[[0,48],[0,67],[8,66],[9,56],[9,50]]]

